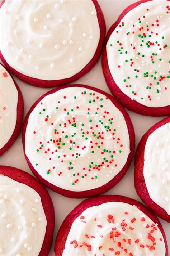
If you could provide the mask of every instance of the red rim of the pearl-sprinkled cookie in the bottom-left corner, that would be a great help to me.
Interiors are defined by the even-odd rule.
[[[42,206],[46,215],[47,226],[44,241],[38,256],[48,255],[53,242],[55,213],[53,203],[47,189],[32,175],[28,174],[28,172],[22,171],[15,167],[0,166],[0,174],[8,176],[17,182],[29,186],[30,188],[36,190],[36,192],[41,197]]]

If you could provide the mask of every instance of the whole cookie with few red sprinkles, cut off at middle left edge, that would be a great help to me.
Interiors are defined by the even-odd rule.
[[[23,122],[24,102],[18,85],[1,64],[0,80],[0,156],[2,156],[18,138]]]

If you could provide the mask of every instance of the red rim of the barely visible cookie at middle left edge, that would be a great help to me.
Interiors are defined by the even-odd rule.
[[[0,64],[2,65],[2,64]],[[3,65],[2,65],[3,66]],[[3,66],[4,67],[4,66]],[[6,67],[4,67],[6,69]],[[6,71],[9,73],[8,69],[6,69]],[[10,73],[9,73],[10,75]],[[8,142],[4,145],[4,147],[2,147],[0,149],[0,156],[2,156],[6,151],[8,151],[8,149],[13,145],[13,143],[15,142],[15,140],[18,138],[21,127],[22,127],[22,123],[23,123],[23,116],[24,116],[24,101],[23,101],[23,96],[22,93],[18,87],[18,85],[16,84],[14,78],[10,75],[10,77],[13,79],[13,82],[15,84],[15,87],[18,91],[18,103],[17,103],[17,116],[16,116],[16,125],[13,131],[13,134],[11,135],[10,139],[8,140]]]

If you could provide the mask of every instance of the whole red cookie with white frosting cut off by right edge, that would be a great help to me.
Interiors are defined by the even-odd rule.
[[[152,126],[138,144],[134,186],[138,196],[161,219],[170,222],[170,117]]]

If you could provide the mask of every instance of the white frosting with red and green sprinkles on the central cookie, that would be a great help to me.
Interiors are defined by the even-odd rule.
[[[61,89],[30,113],[25,154],[39,175],[57,187],[98,188],[127,161],[126,121],[103,94],[84,87]]]

